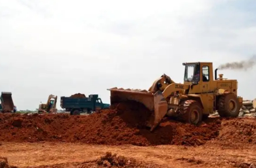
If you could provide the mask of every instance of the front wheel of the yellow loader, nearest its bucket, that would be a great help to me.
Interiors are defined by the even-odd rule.
[[[189,124],[197,124],[202,121],[202,106],[195,100],[186,100],[180,104],[182,120]]]

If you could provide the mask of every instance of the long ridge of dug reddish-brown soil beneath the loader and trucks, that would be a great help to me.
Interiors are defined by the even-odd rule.
[[[89,116],[0,114],[0,141],[136,146],[199,146],[213,139],[220,142],[225,140],[233,143],[256,143],[255,119],[209,118],[198,126],[192,126],[164,118],[159,126],[150,132],[145,126],[149,115],[143,105],[136,103],[119,104]]]

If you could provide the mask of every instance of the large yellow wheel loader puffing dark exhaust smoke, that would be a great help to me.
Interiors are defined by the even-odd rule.
[[[237,117],[243,98],[237,96],[237,80],[213,72],[212,62],[183,63],[184,83],[175,83],[163,74],[148,90],[111,88],[110,104],[133,100],[152,112],[147,126],[154,130],[164,116],[197,124],[218,111],[221,117]],[[215,74],[215,77],[214,77]]]

